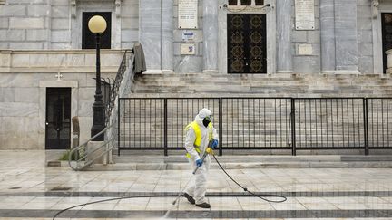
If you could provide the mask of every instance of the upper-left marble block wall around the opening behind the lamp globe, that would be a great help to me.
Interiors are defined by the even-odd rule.
[[[139,41],[138,0],[6,1],[0,5],[0,49],[80,49],[82,12],[93,11],[112,12],[113,49]]]

